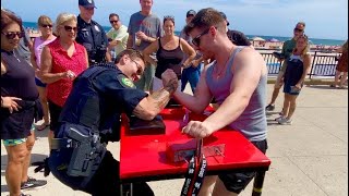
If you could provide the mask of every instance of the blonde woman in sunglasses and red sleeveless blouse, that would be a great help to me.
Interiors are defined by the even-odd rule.
[[[58,126],[58,118],[73,86],[73,79],[88,66],[85,47],[75,41],[77,20],[74,14],[61,13],[56,20],[57,39],[41,53],[41,81],[47,83],[50,110],[49,143]]]

